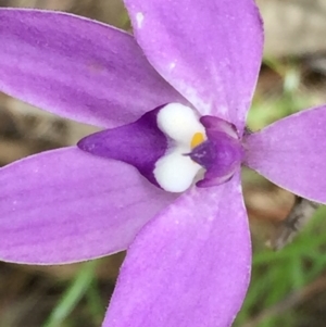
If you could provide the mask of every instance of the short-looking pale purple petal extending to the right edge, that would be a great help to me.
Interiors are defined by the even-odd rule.
[[[326,106],[280,120],[246,140],[246,164],[280,187],[326,203]]]

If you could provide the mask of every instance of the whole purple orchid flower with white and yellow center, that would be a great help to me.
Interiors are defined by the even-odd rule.
[[[326,106],[243,134],[263,45],[253,1],[125,4],[135,38],[0,10],[0,89],[110,128],[79,142],[90,153],[1,169],[0,257],[62,264],[128,248],[103,326],[229,326],[251,265],[240,165],[325,203]]]

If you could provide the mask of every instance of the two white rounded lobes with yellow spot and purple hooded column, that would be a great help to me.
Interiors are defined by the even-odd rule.
[[[183,192],[204,171],[197,186],[218,185],[240,166],[242,146],[231,124],[213,116],[199,118],[191,108],[178,103],[162,108],[156,118],[158,127],[170,139],[153,171],[164,190]]]

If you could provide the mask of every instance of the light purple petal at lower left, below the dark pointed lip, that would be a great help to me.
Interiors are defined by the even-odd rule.
[[[76,148],[0,171],[0,259],[58,264],[126,249],[175,197],[133,166]]]

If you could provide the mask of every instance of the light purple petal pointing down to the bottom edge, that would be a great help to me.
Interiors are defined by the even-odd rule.
[[[250,276],[239,174],[193,188],[136,237],[103,327],[229,326]]]

